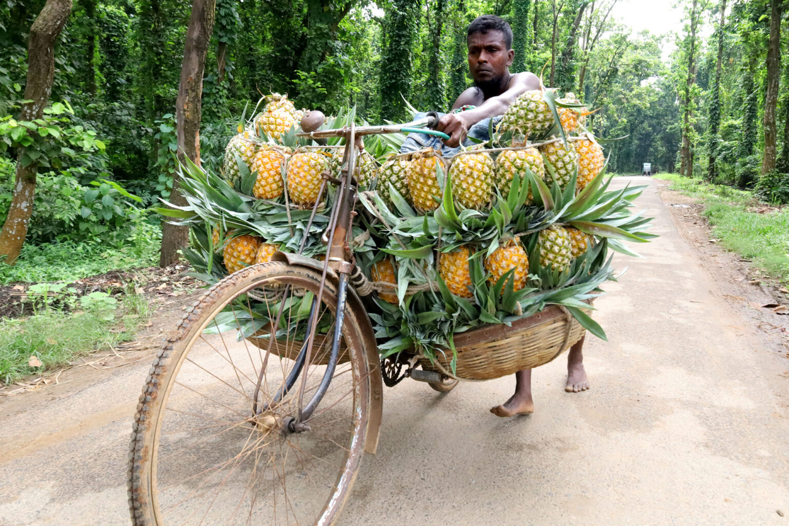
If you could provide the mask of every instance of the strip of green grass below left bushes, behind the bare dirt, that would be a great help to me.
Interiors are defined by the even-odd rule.
[[[110,270],[151,267],[159,263],[158,252],[158,243],[151,243],[142,250],[133,246],[108,248],[100,242],[25,244],[13,267],[0,263],[0,285],[13,282],[75,282]]]

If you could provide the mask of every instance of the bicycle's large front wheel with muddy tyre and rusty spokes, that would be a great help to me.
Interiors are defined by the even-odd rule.
[[[334,524],[364,450],[370,380],[359,313],[345,316],[341,363],[327,375],[337,290],[327,282],[318,303],[320,282],[316,270],[262,263],[190,308],[137,406],[133,524]],[[314,344],[300,369],[294,358],[312,316]],[[294,432],[288,423],[324,375],[326,394]]]

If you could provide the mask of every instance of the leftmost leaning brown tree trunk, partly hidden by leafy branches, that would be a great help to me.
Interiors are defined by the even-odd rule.
[[[24,85],[21,121],[33,121],[43,117],[44,107],[49,102],[54,80],[54,44],[71,13],[71,0],[47,0],[30,28],[28,39],[28,80]],[[28,235],[30,216],[33,213],[33,197],[36,195],[36,174],[39,166],[31,162],[22,166],[24,148],[17,152],[17,173],[11,206],[6,223],[0,233],[0,259],[13,265]]]

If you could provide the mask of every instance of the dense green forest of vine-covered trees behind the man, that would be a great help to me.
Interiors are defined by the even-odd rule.
[[[215,0],[200,158],[215,170],[241,114],[271,91],[327,114],[356,106],[370,123],[406,120],[404,99],[446,111],[471,85],[466,26],[495,13],[514,30],[512,71],[574,92],[598,109],[589,118],[596,136],[621,138],[606,144],[609,172],[637,173],[652,162],[789,201],[789,2],[680,0],[681,32],[634,35],[615,16],[624,1]],[[0,221],[17,162],[36,164],[28,241],[148,243],[159,233],[145,208],[172,186],[174,107],[193,6],[61,2],[69,11],[48,106],[31,124],[20,116],[28,39],[45,4],[0,6]],[[31,121],[41,147],[20,142],[19,121]]]

